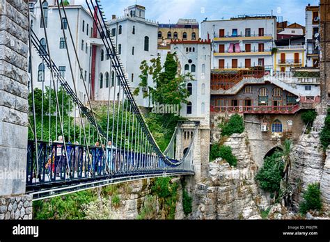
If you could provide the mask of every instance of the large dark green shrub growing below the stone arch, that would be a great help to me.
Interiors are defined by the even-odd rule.
[[[270,193],[278,192],[283,177],[284,163],[281,152],[275,152],[272,156],[265,158],[264,166],[256,175],[260,188]]]

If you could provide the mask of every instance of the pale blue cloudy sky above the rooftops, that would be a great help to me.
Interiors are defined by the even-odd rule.
[[[75,0],[83,4],[85,0]],[[146,7],[146,18],[159,23],[175,24],[179,18],[208,20],[228,19],[237,15],[273,14],[283,21],[305,25],[305,7],[317,6],[319,0],[102,0],[108,19],[111,15],[122,16],[127,6],[135,3]]]

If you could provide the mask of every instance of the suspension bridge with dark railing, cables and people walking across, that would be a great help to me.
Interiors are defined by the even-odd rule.
[[[39,0],[39,5],[42,9],[41,0]],[[45,40],[41,41],[30,26],[29,64],[31,66],[34,55],[37,54],[42,59],[43,67],[47,67],[50,71],[48,89],[45,90],[45,84],[42,82],[41,134],[39,135],[34,91],[36,76],[30,72],[29,89],[33,113],[30,129],[33,138],[29,140],[27,149],[26,193],[32,194],[33,200],[148,177],[195,174],[194,147],[198,143],[199,122],[179,123],[166,150],[164,152],[160,150],[132,95],[118,50],[107,29],[107,20],[100,1],[86,0],[86,5],[93,16],[93,31],[100,36],[106,48],[107,59],[111,63],[109,68],[115,71],[118,80],[109,88],[107,128],[101,127],[100,120],[98,121],[95,117],[91,95],[89,95],[90,90],[86,86],[86,76],[83,74],[78,58],[70,22],[66,23],[67,31],[63,26],[62,19],[68,20],[65,6],[63,1],[59,3],[57,0],[58,20],[62,24],[72,86],[52,59],[47,28],[42,28]],[[42,26],[46,26],[45,18],[45,13],[41,10]],[[74,56],[69,54],[70,48],[74,51]],[[79,65],[82,83],[84,83],[87,97],[84,103],[79,99],[77,92],[77,80],[74,79],[72,67],[74,61]],[[42,72],[38,72],[39,74]],[[58,86],[61,87],[62,92],[58,92]],[[70,97],[68,107],[64,106],[64,92]],[[110,98],[111,92],[113,92],[113,99]],[[119,95],[116,95],[118,92]],[[44,100],[46,94],[49,100],[47,106]],[[65,122],[65,119],[69,122]],[[73,127],[71,120],[74,120]],[[47,129],[46,125],[48,125]],[[189,130],[187,133],[189,145],[184,149],[184,154],[181,140],[183,125]],[[55,134],[54,129],[56,129]],[[77,133],[79,133],[79,138]],[[55,139],[57,140],[54,141]]]

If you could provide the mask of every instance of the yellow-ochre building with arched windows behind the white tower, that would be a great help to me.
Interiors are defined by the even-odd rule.
[[[198,40],[199,24],[196,19],[179,19],[177,24],[159,24],[158,45],[170,48],[171,40]]]

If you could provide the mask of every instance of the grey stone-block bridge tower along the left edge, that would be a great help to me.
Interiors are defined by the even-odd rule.
[[[0,220],[32,219],[25,195],[28,9],[28,0],[0,2]]]

